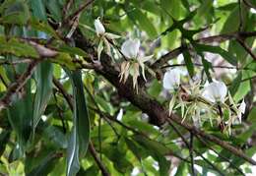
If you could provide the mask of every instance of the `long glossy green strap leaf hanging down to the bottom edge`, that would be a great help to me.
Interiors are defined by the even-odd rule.
[[[83,157],[90,141],[90,121],[84,93],[81,71],[66,71],[72,81],[74,95],[73,129],[68,144],[68,176],[74,176],[80,168],[79,157]]]

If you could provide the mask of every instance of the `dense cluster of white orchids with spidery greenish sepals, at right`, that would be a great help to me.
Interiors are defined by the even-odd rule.
[[[221,130],[231,134],[231,125],[241,123],[245,112],[244,100],[236,104],[223,82],[205,84],[192,83],[189,86],[181,85],[180,72],[172,69],[163,76],[163,88],[172,93],[169,101],[169,114],[180,108],[182,122],[189,116],[196,125],[201,126],[204,121],[217,122]]]

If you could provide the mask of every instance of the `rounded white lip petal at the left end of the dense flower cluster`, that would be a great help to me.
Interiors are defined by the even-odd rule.
[[[163,76],[163,88],[174,90],[180,85],[180,72],[177,69],[172,69],[165,72]]]

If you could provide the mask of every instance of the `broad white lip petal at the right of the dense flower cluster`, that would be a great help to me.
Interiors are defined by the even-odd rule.
[[[227,88],[223,82],[213,82],[209,84],[203,91],[203,97],[207,100],[217,103],[223,102],[227,93]]]

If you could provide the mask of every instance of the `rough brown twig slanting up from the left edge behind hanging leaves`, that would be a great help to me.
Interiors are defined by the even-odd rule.
[[[15,95],[21,88],[23,88],[27,81],[30,80],[32,77],[32,72],[38,63],[39,60],[33,60],[27,71],[21,75],[15,83],[9,86],[5,95],[0,99],[0,112],[11,104],[13,95]]]

